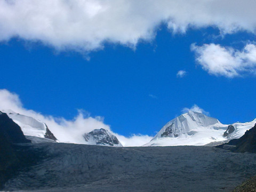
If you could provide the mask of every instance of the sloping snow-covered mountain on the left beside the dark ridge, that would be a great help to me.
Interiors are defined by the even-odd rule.
[[[36,120],[33,117],[15,113],[11,110],[6,111],[6,114],[21,127],[24,135],[57,141],[57,138],[55,138],[45,123]]]

